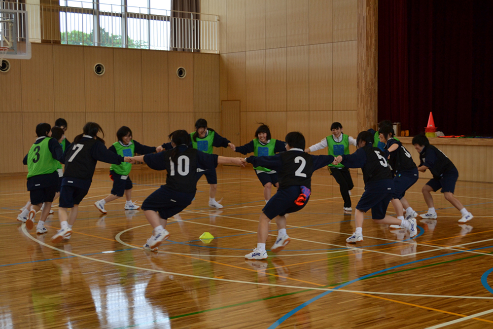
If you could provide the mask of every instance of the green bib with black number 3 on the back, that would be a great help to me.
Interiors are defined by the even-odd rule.
[[[28,152],[28,178],[57,171],[57,163],[60,162],[53,159],[48,147],[50,140],[51,137],[45,137],[41,143],[31,146]]]

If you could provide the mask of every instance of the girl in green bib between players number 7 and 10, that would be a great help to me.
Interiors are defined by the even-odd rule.
[[[116,137],[118,141],[113,143],[108,150],[113,153],[119,154],[123,157],[134,156],[137,154],[148,154],[156,152],[155,146],[145,146],[132,139],[132,130],[127,126],[122,126],[116,132]],[[94,206],[98,208],[100,212],[106,214],[105,204],[111,202],[118,198],[121,198],[125,194],[127,202],[125,203],[125,210],[137,210],[140,207],[132,202],[132,181],[128,176],[130,170],[132,169],[132,164],[128,162],[122,162],[119,165],[112,164],[109,167],[109,177],[113,181],[113,188],[111,189],[111,194],[106,198],[96,201]]]

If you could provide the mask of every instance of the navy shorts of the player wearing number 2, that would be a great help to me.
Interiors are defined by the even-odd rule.
[[[290,213],[295,213],[302,210],[310,197],[305,200],[302,206],[298,206],[294,201],[301,193],[300,186],[289,186],[287,188],[278,189],[276,194],[267,202],[262,209],[262,212],[268,219],[273,219],[276,216],[283,216]]]

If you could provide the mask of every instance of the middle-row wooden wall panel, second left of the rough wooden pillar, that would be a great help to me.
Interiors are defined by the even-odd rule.
[[[332,110],[332,43],[310,45],[310,110]]]

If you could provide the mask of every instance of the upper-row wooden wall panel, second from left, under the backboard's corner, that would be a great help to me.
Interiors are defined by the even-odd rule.
[[[22,61],[22,111],[54,112],[53,46],[32,44],[32,58]]]

